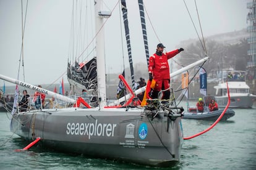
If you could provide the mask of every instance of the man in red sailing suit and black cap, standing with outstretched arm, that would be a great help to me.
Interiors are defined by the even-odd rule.
[[[176,54],[179,54],[179,52],[184,51],[184,49],[180,48],[174,51],[163,53],[164,48],[165,47],[163,44],[158,44],[156,48],[156,53],[150,56],[148,73],[150,81],[152,79],[155,79],[156,81],[155,87],[150,94],[151,99],[157,99],[158,92],[169,88],[170,75],[168,59],[171,59]],[[168,100],[169,96],[170,91],[164,91],[162,99]]]

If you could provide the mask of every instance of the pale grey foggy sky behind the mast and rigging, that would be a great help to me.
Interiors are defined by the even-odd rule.
[[[85,2],[87,1],[83,1]],[[105,1],[105,8],[112,10],[116,2],[117,0]],[[199,29],[194,1],[186,2]],[[247,27],[246,17],[249,12],[247,2],[250,2],[249,0],[197,0],[196,2],[204,36],[242,30]],[[27,1],[23,1],[24,18],[26,3]],[[59,83],[63,77],[64,83],[67,83],[66,70],[67,60],[70,59],[72,4],[71,0],[28,1],[23,53],[25,82],[30,84]],[[183,1],[144,1],[144,4],[153,28],[167,51],[179,48],[177,44],[183,40],[197,38]],[[127,9],[134,63],[146,63],[137,1],[127,1]],[[146,14],[145,18],[151,55],[155,52],[159,41]],[[20,0],[0,0],[0,23],[0,74],[16,79],[22,44]],[[122,53],[124,53],[125,66],[129,66],[125,36],[122,37],[124,43],[122,52],[121,26],[123,23],[120,23],[117,6],[105,25],[106,73],[122,72]],[[85,47],[80,47],[80,51],[83,49]],[[19,79],[24,81],[23,67],[20,67],[19,73]],[[2,84],[3,81],[0,80],[1,88]],[[6,85],[12,84],[6,82]]]

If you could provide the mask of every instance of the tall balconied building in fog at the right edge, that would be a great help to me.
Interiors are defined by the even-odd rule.
[[[250,45],[250,49],[247,51],[247,55],[249,55],[247,69],[249,79],[256,79],[256,1],[248,2],[247,9],[249,9],[247,15],[249,26],[247,27],[247,31],[250,33],[250,37],[247,39]]]

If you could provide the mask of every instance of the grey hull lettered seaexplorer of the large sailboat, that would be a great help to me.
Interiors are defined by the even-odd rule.
[[[36,111],[14,115],[11,127],[20,137],[41,137],[41,146],[60,152],[150,166],[179,163],[181,118],[171,120],[160,113],[151,121],[140,116],[142,111]]]

